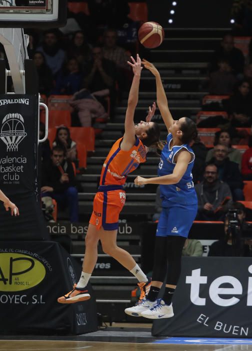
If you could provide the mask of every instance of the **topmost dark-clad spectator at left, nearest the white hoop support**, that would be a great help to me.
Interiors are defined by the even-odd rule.
[[[37,51],[43,53],[45,61],[54,77],[56,77],[60,68],[65,61],[65,52],[60,49],[57,32],[48,30],[44,33],[42,45],[37,48]]]

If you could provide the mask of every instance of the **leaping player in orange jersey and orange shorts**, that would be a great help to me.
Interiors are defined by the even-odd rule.
[[[85,256],[82,273],[77,284],[66,295],[57,299],[60,303],[74,303],[90,298],[86,288],[88,280],[97,261],[97,244],[100,240],[102,250],[128,269],[139,281],[140,299],[145,296],[150,282],[131,255],[116,244],[119,214],[125,204],[123,184],[127,174],[146,160],[146,147],[159,145],[160,130],[156,123],[150,122],[155,104],[149,108],[146,122],[134,124],[133,116],[138,101],[141,60],[131,57],[134,77],[129,91],[125,115],[125,132],[115,141],[103,163],[100,185],[93,201],[93,212],[85,237]]]

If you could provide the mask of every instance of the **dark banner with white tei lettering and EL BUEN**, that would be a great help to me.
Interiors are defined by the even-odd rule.
[[[174,316],[154,336],[251,338],[252,264],[243,257],[183,257]]]

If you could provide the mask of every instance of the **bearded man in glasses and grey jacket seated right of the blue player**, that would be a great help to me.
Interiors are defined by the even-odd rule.
[[[205,166],[203,178],[201,183],[195,185],[198,199],[196,220],[220,221],[232,199],[230,188],[219,181],[218,169],[213,163]]]

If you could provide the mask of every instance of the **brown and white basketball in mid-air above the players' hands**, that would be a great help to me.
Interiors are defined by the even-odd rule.
[[[138,39],[145,48],[157,48],[164,39],[162,26],[156,22],[145,22],[138,30]]]

